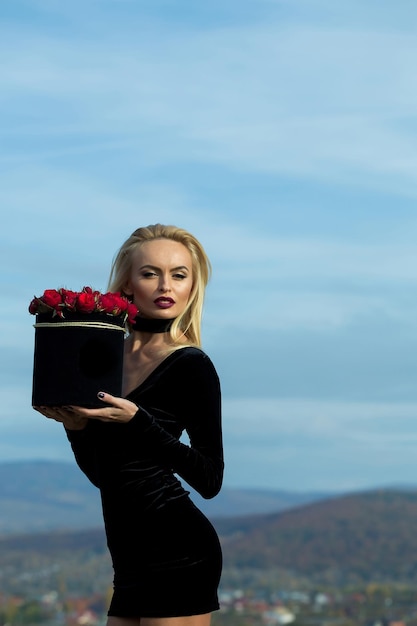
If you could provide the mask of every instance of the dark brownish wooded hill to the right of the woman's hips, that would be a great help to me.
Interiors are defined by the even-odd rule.
[[[236,568],[417,582],[417,491],[346,495],[216,527]]]

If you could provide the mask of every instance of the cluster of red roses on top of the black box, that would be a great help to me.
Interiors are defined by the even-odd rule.
[[[115,317],[123,316],[132,323],[137,308],[120,293],[100,293],[91,287],[83,287],[79,292],[69,289],[46,289],[42,296],[34,297],[29,305],[32,315],[50,314],[64,319],[68,313],[105,313]]]

